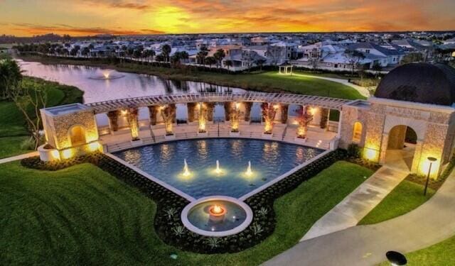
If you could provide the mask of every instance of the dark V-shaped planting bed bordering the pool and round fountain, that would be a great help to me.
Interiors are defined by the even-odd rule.
[[[276,223],[273,208],[275,199],[287,194],[298,187],[301,182],[314,177],[333,162],[345,157],[346,152],[343,150],[328,153],[250,197],[245,201],[253,211],[253,221],[250,226],[245,231],[220,238],[207,237],[188,231],[180,218],[181,211],[189,203],[186,199],[101,153],[75,157],[61,162],[42,162],[39,157],[30,157],[21,160],[21,165],[39,170],[61,170],[72,165],[90,162],[127,184],[137,187],[146,196],[154,199],[158,205],[154,225],[156,233],[164,242],[175,245],[181,250],[196,253],[235,253],[257,245],[273,233]]]

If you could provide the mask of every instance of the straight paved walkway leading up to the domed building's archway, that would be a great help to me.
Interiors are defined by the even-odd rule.
[[[331,211],[316,221],[301,241],[356,226],[392,189],[397,187],[397,184],[405,179],[407,174],[409,173],[381,167]]]

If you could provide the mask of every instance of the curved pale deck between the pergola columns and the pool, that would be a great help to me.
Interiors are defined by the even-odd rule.
[[[139,131],[139,142],[132,143],[131,135],[128,128],[121,129],[115,133],[101,135],[100,141],[105,146],[105,151],[114,153],[119,150],[126,150],[128,148],[137,147],[139,145],[149,145],[153,143],[162,143],[166,140],[184,140],[193,138],[257,138],[279,140],[287,143],[294,143],[305,145],[312,148],[320,148],[328,150],[330,143],[336,138],[336,133],[325,131],[317,127],[309,127],[307,138],[304,142],[295,140],[297,127],[294,125],[287,126],[285,124],[277,124],[273,128],[273,135],[264,136],[264,126],[260,123],[240,124],[239,135],[230,134],[229,123],[215,123],[207,125],[207,133],[205,135],[198,135],[197,123],[192,124],[178,124],[174,126],[173,131],[175,138],[165,138],[164,125],[154,126],[150,129],[149,126],[141,127]]]

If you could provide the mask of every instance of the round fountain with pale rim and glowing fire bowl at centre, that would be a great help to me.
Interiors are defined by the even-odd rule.
[[[181,219],[188,230],[207,236],[239,233],[253,218],[250,206],[230,196],[208,196],[188,204]]]

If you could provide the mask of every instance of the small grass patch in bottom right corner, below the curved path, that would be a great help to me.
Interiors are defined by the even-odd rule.
[[[407,265],[455,265],[455,236],[440,243],[405,254]],[[389,262],[382,262],[381,266],[390,265]]]

